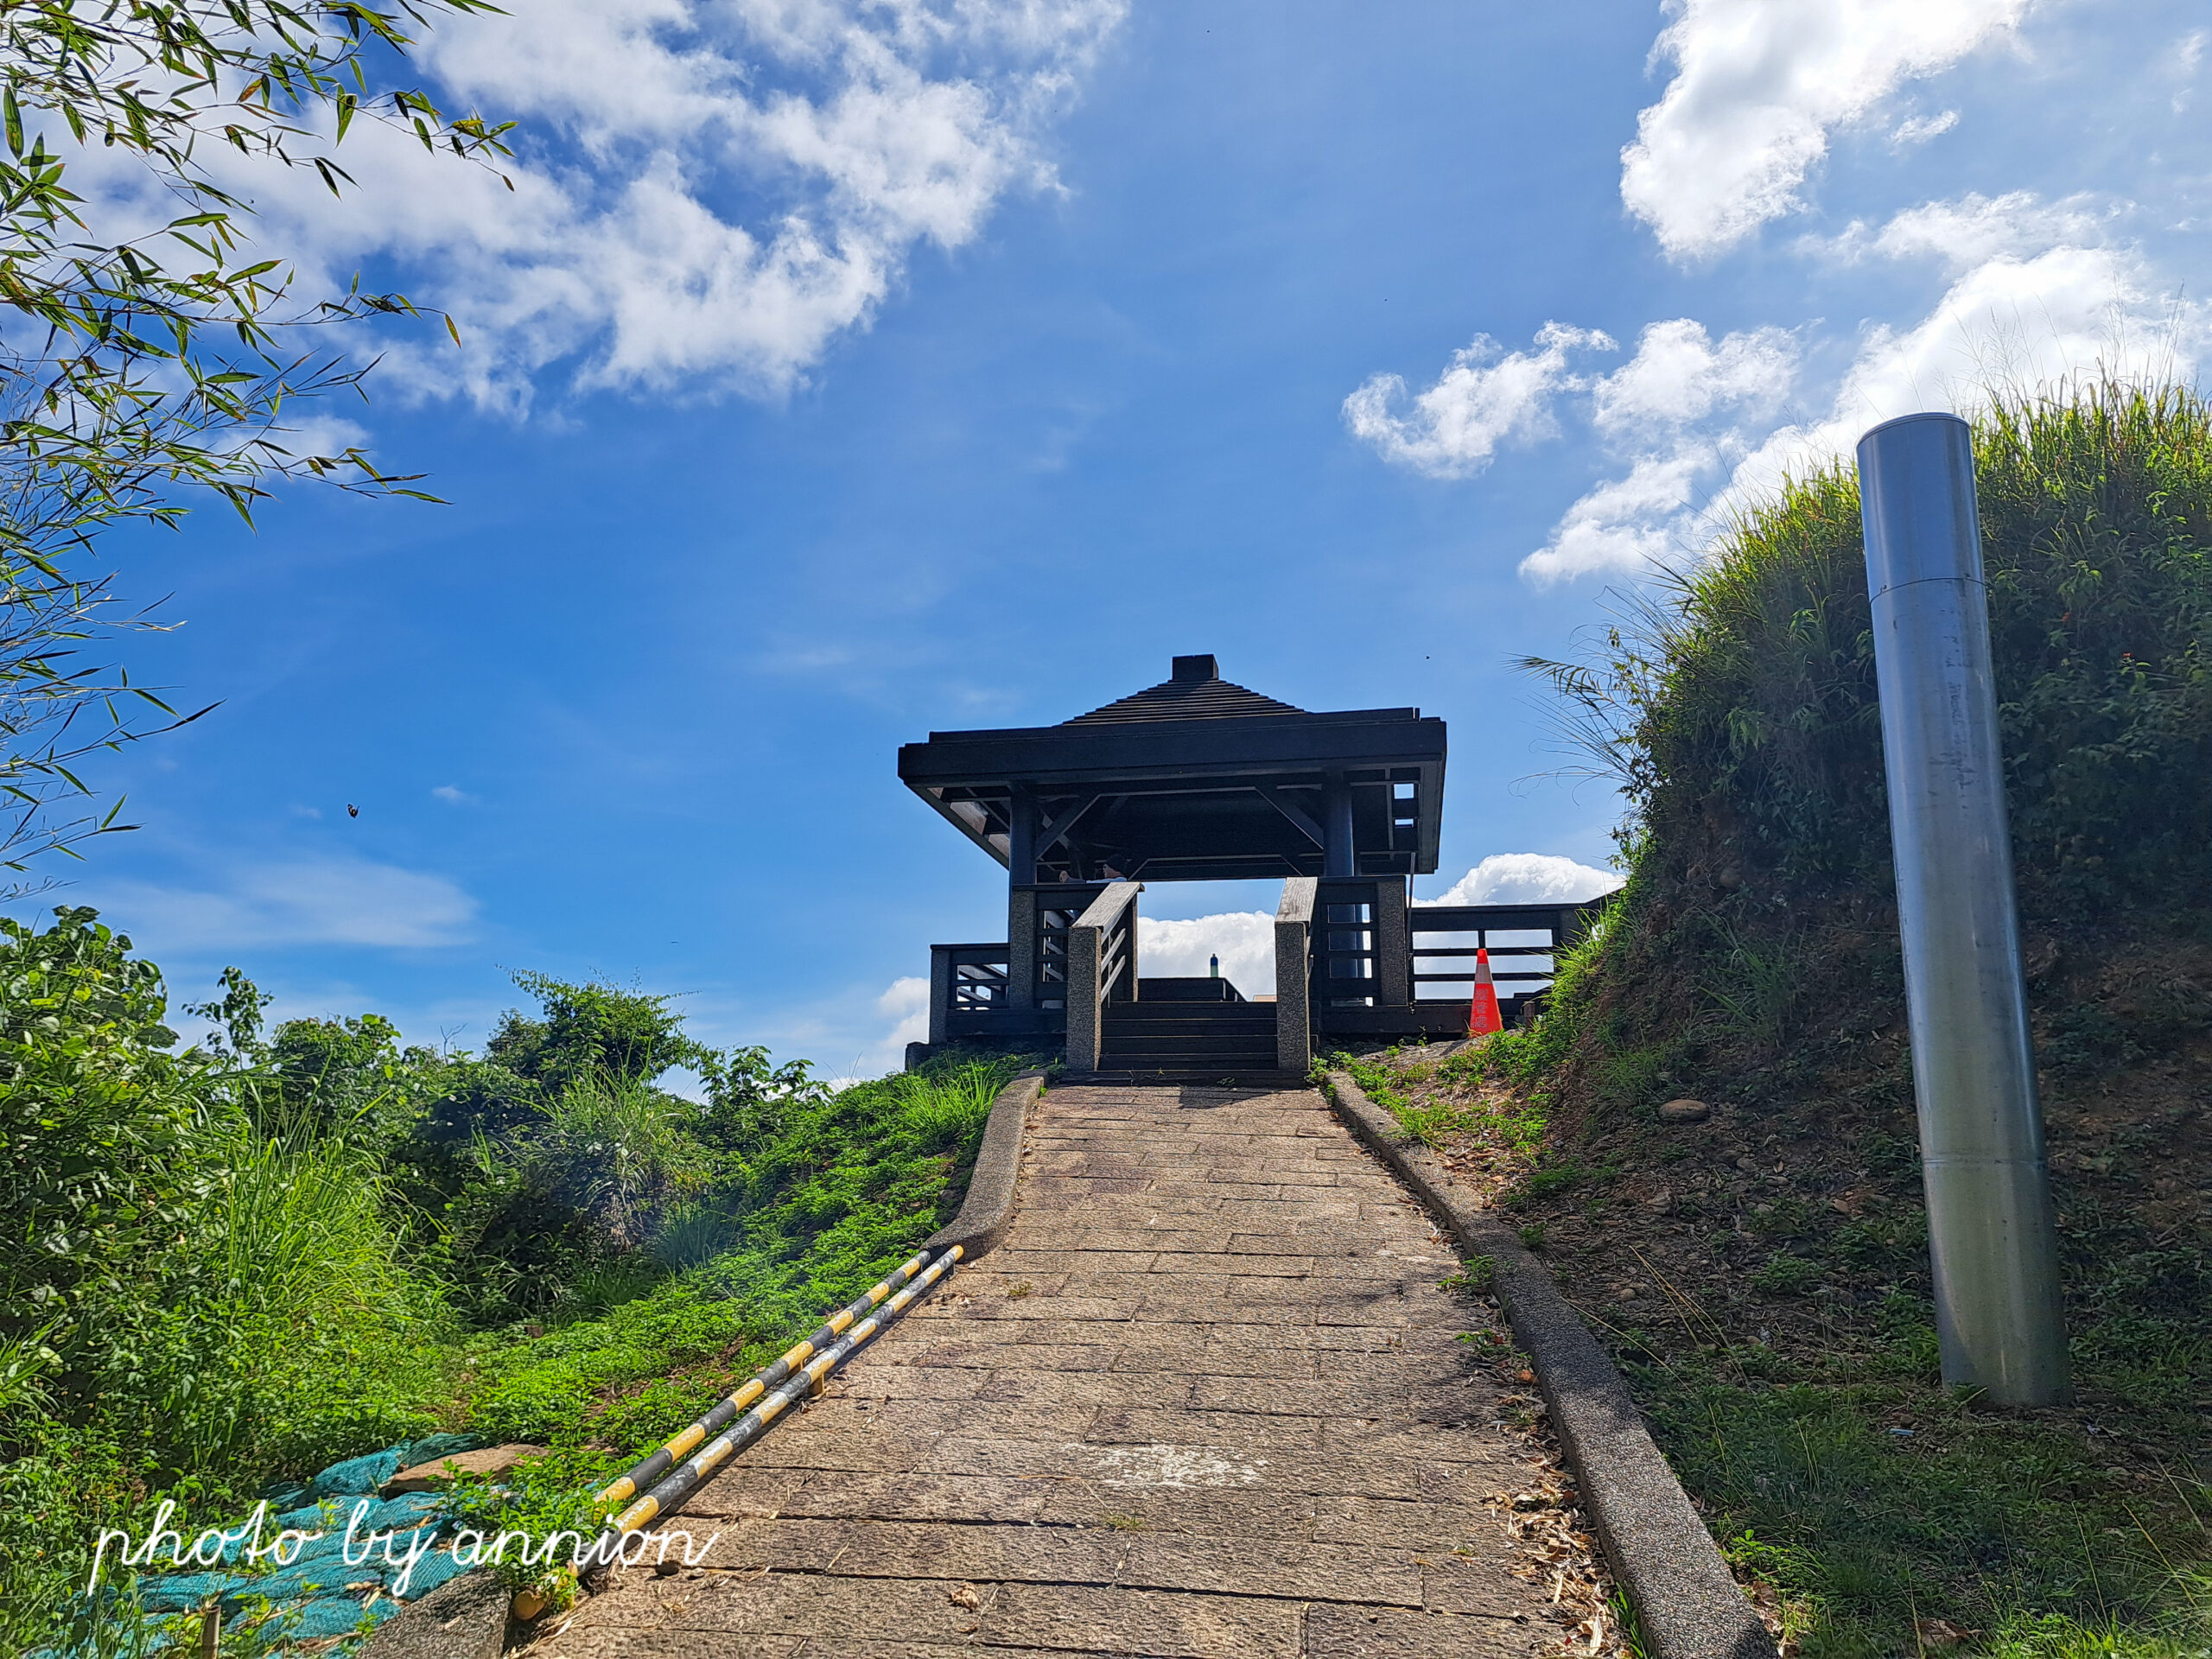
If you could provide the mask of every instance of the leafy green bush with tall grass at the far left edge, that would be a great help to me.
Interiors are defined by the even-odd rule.
[[[0,918],[7,1650],[51,1635],[97,1526],[414,1433],[447,1383],[440,1287],[374,1157],[330,1113],[279,1124],[265,1073],[179,1051],[166,1013],[93,911]]]

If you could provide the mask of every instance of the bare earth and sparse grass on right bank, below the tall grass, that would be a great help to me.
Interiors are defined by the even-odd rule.
[[[1940,1387],[1896,969],[1878,927],[1820,947],[1787,1042],[1686,1002],[1657,1064],[1593,1033],[1520,1084],[1471,1051],[1365,1064],[1553,1265],[1794,1648],[2166,1619],[2212,1544],[2212,945],[2028,940],[2077,1376],[2057,1411]],[[1674,1097],[1710,1113],[1663,1121]]]

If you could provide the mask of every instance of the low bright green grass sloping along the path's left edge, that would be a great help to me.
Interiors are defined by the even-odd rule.
[[[161,1495],[179,1498],[201,1524],[234,1522],[268,1478],[305,1475],[429,1429],[551,1447],[526,1471],[511,1524],[580,1513],[595,1478],[684,1427],[951,1219],[991,1099],[1015,1068],[1006,1060],[940,1062],[794,1113],[754,1159],[723,1232],[690,1241],[703,1261],[639,1276],[626,1301],[593,1318],[538,1334],[458,1336],[442,1321],[409,1323],[403,1298],[392,1298],[398,1336],[387,1332],[389,1340],[349,1371],[319,1371],[316,1380],[343,1380],[354,1398],[325,1402],[316,1422],[270,1442],[250,1467],[153,1493],[106,1440],[88,1442],[91,1458],[53,1442],[7,1464],[0,1491],[20,1524],[9,1533],[18,1553],[0,1595],[0,1652],[29,1650],[62,1628],[64,1597],[82,1586],[100,1526],[144,1531]],[[44,1540],[42,1559],[20,1548],[33,1540]],[[82,1632],[95,1644],[88,1652],[122,1639],[119,1619],[95,1626]],[[230,1630],[223,1641],[226,1652],[257,1650],[252,1630]]]

